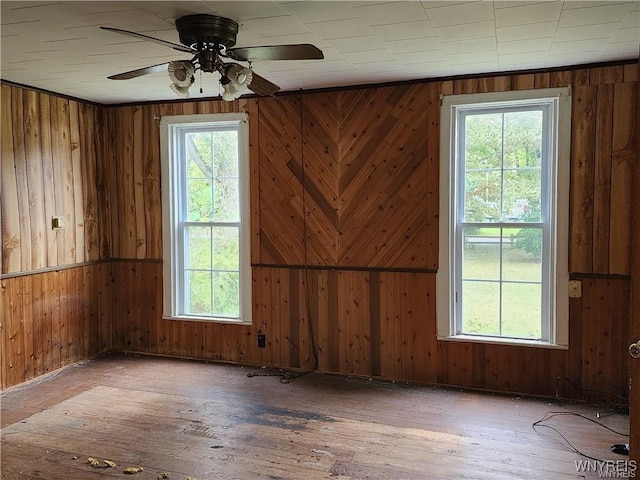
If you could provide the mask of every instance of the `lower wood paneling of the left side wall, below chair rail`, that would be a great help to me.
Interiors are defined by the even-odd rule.
[[[3,389],[112,348],[110,263],[4,278],[0,294]]]

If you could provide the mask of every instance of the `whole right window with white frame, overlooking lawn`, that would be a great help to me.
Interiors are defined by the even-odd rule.
[[[438,338],[568,344],[570,95],[443,97]]]

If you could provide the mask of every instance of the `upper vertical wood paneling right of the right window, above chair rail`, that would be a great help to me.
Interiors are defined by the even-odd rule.
[[[628,275],[636,82],[624,81],[622,68],[594,69],[589,78],[573,92],[570,270]]]

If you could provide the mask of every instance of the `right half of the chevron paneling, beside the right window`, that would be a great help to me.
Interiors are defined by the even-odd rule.
[[[429,268],[424,85],[340,95],[339,264]]]

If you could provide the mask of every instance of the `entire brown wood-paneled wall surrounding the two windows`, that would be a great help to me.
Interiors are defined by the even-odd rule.
[[[105,108],[95,182],[108,212],[96,249],[112,259],[111,338],[104,344],[306,369],[315,343],[324,372],[543,395],[580,396],[580,388],[626,395],[637,77],[638,65],[626,64]],[[582,298],[570,301],[570,349],[438,342],[440,94],[567,85],[569,261],[583,282]],[[224,111],[250,117],[253,325],[162,320],[156,117]],[[258,333],[266,334],[264,349]]]

